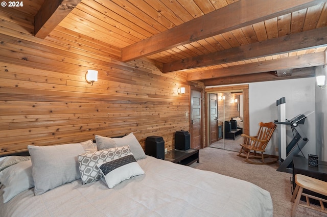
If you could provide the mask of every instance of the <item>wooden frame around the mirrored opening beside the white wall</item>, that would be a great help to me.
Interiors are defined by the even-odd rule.
[[[205,88],[205,107],[208,108],[208,94],[209,93],[217,93],[217,92],[234,92],[234,91],[243,91],[243,133],[249,135],[250,132],[250,119],[249,119],[249,85],[232,85],[232,86],[221,86],[221,87],[212,87]],[[205,117],[208,120],[209,112],[208,109],[205,110]],[[205,122],[205,145],[204,147],[208,147],[210,144],[209,140],[209,122]]]

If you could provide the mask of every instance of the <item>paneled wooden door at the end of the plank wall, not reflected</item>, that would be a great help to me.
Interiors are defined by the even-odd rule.
[[[191,148],[202,148],[202,97],[201,91],[191,90]]]

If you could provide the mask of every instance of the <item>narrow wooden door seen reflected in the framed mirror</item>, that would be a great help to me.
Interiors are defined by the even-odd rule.
[[[210,144],[218,141],[218,107],[217,94],[209,94],[209,128],[210,128]]]

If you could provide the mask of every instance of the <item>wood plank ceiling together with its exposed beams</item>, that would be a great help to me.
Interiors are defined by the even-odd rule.
[[[314,76],[313,66],[326,62],[326,1],[54,1],[64,15],[44,9],[50,2],[30,0],[10,10],[35,17],[30,32],[37,37],[91,37],[118,48],[117,59],[146,57],[164,73],[187,72],[188,80],[206,86]],[[45,20],[45,12],[56,16]],[[40,22],[49,34],[39,33]],[[57,24],[52,30],[47,23]]]

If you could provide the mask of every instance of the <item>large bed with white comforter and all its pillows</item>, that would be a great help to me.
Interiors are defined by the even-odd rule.
[[[197,170],[147,156],[142,153],[139,149],[141,146],[137,147],[137,144],[134,146],[130,143],[126,146],[125,142],[120,143],[120,141],[113,140],[104,143],[106,138],[102,139],[102,141],[99,138],[97,140],[97,151],[87,153],[85,151],[94,151],[87,150],[92,149],[92,145],[89,145],[88,148],[83,146],[83,151],[78,144],[58,146],[59,151],[58,147],[53,146],[48,153],[46,153],[48,150],[44,153],[48,147],[29,147],[31,159],[27,158],[1,171],[0,180],[3,180],[1,175],[4,171],[11,170],[10,168],[17,167],[19,164],[25,164],[25,167],[32,173],[29,178],[31,179],[32,176],[35,186],[21,189],[20,193],[4,203],[3,195],[6,186],[2,185],[0,188],[0,216],[273,216],[270,194],[259,186],[218,173]],[[108,143],[115,147],[108,148],[106,145]],[[101,146],[104,146],[102,147],[104,149],[101,149]],[[114,174],[112,171],[115,170],[112,170],[107,175],[102,173],[99,180],[84,183],[89,179],[85,179],[85,177],[83,179],[83,173],[80,173],[75,177],[76,180],[64,180],[65,183],[50,186],[51,189],[47,189],[48,186],[43,187],[44,192],[40,193],[42,187],[37,183],[40,177],[36,174],[37,166],[40,165],[34,165],[40,163],[37,154],[46,161],[55,159],[59,165],[61,163],[58,159],[65,161],[63,167],[67,167],[71,164],[69,161],[72,157],[63,160],[63,156],[58,158],[56,152],[63,153],[60,155],[75,156],[76,153],[71,151],[72,149],[81,152],[78,157],[73,157],[74,167],[77,167],[78,172],[81,172],[81,158],[90,154],[94,156],[98,152],[101,154],[111,153],[113,150],[114,153],[117,150],[120,150],[119,153],[124,152],[123,157],[108,162],[127,156],[133,157],[135,161],[122,166],[124,169],[120,171],[120,174]],[[66,154],[65,152],[72,153]],[[101,162],[99,165],[106,165],[108,162]],[[133,166],[131,166],[132,164]],[[58,170],[56,167],[60,166],[48,162],[41,165],[40,167],[45,169],[41,178],[46,176],[45,178],[49,178],[49,182],[58,179],[58,173],[54,177],[51,176],[54,175],[54,171]],[[49,165],[53,168],[49,168]],[[138,171],[136,175],[135,168]],[[65,170],[68,169],[65,168]],[[110,187],[108,181],[112,181],[110,180],[112,177],[121,176],[121,173],[126,170],[129,170],[129,173],[132,171],[134,174],[129,174],[131,176],[125,180],[123,178],[123,180],[116,181]],[[64,176],[68,175],[62,174],[62,177]],[[45,181],[43,180],[43,182]]]

